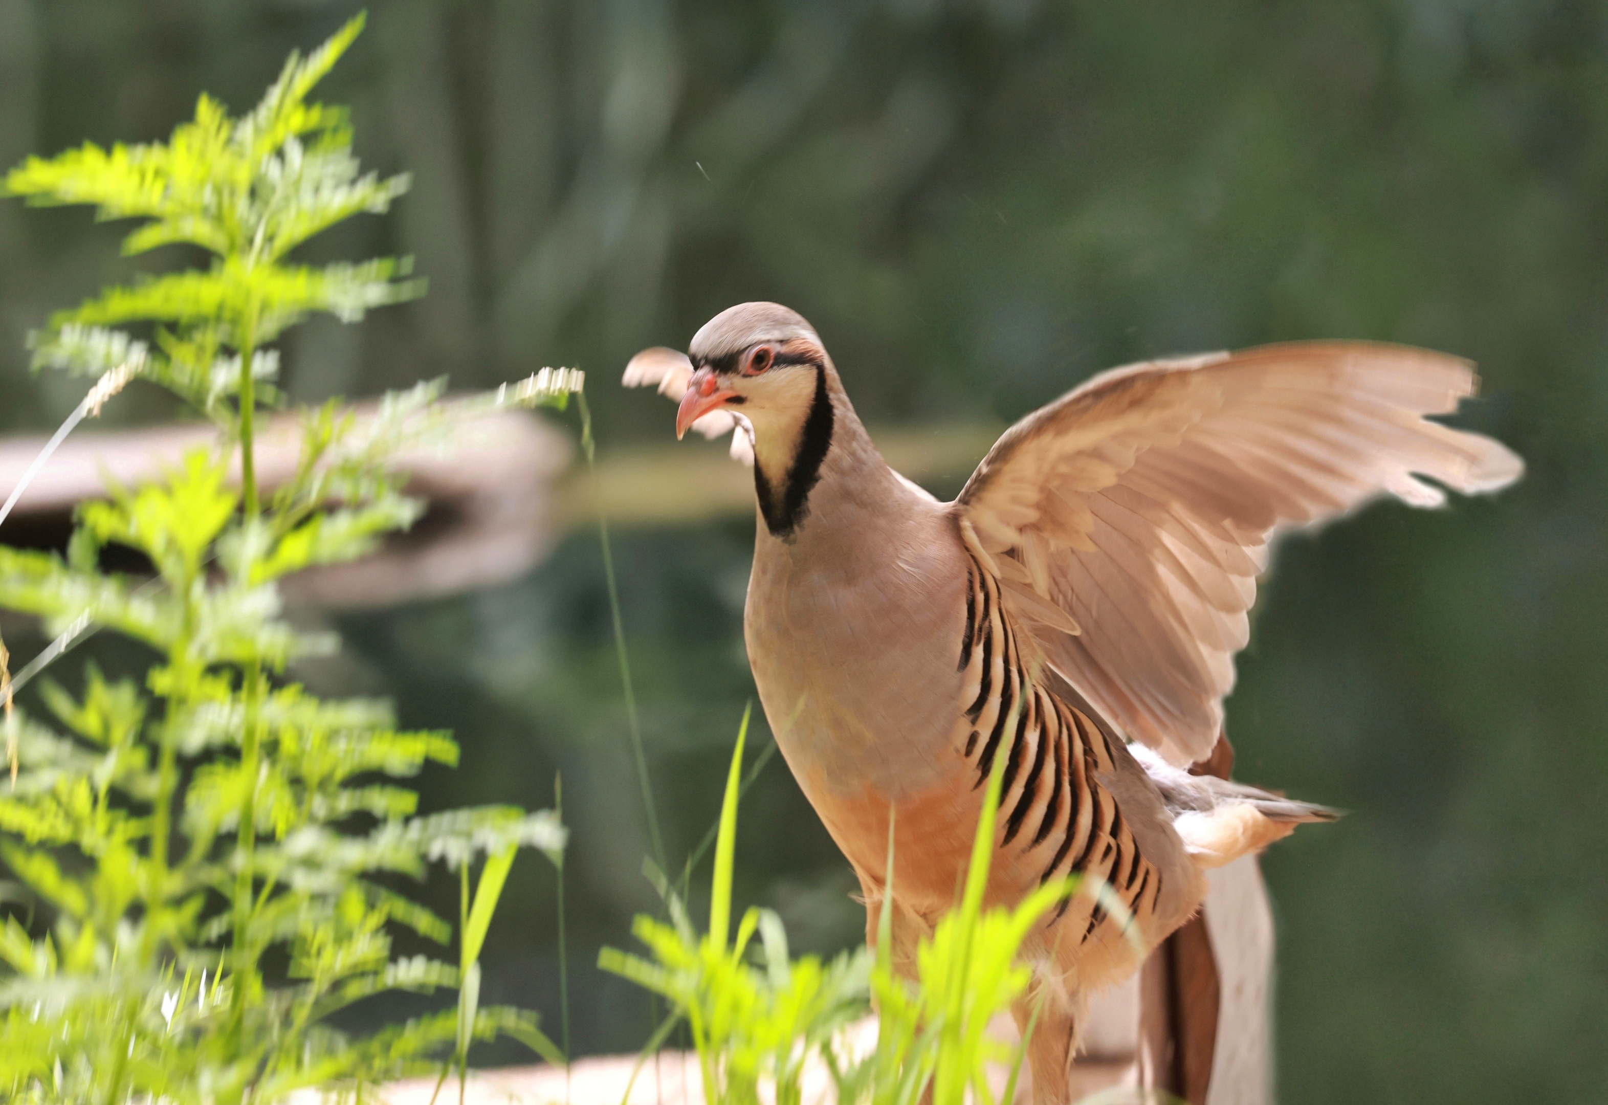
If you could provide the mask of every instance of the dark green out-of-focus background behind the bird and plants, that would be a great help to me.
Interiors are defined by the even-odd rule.
[[[0,164],[166,137],[201,90],[246,108],[354,10],[0,0]],[[716,494],[717,446],[674,447],[671,407],[616,386],[638,347],[786,302],[941,495],[991,433],[1121,362],[1319,336],[1476,360],[1458,423],[1516,447],[1524,483],[1286,540],[1229,701],[1241,777],[1351,811],[1265,857],[1278,1084],[1312,1105],[1608,1092],[1600,3],[384,0],[322,95],[413,191],[307,256],[412,254],[431,290],[294,331],[289,394],[589,370],[672,869],[753,695],[753,520]],[[117,233],[0,204],[0,431],[47,431],[82,394],[27,375],[29,328],[170,264],[121,259]],[[106,421],[170,413],[130,391]],[[574,1036],[601,1052],[638,1045],[650,1010],[597,949],[654,898],[584,492],[515,582],[301,611],[347,642],[302,674],[457,732],[463,766],[425,778],[426,806],[545,806],[563,772]],[[852,878],[780,759],[738,861],[740,898],[799,949],[859,939]],[[553,891],[521,861],[482,999],[556,1029]]]

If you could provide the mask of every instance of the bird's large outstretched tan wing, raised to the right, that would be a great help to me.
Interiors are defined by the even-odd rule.
[[[1455,357],[1264,346],[1095,376],[1011,426],[955,510],[1045,661],[1129,737],[1203,759],[1267,542],[1380,494],[1415,507],[1518,479],[1489,437],[1425,420],[1476,388]]]

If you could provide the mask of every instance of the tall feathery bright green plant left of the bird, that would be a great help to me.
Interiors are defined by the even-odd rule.
[[[449,1047],[461,1082],[471,1042],[498,1036],[564,1062],[534,1013],[479,1002],[479,954],[513,859],[534,846],[556,865],[558,819],[513,806],[413,817],[418,795],[397,780],[455,766],[452,738],[400,732],[389,703],[320,700],[283,680],[330,640],[296,632],[275,581],[357,560],[418,518],[396,473],[404,449],[441,447],[507,407],[561,409],[580,384],[547,370],[476,399],[420,384],[363,418],[302,407],[294,474],[259,495],[254,423],[278,368],[267,343],[315,310],[357,322],[418,293],[391,280],[404,267],[392,261],[285,264],[307,236],[405,191],[402,179],[360,177],[346,113],[307,98],[360,29],[355,18],[291,53],[240,117],[203,95],[169,143],[85,143],[0,180],[37,206],[146,219],[125,253],[212,254],[204,270],[108,288],[31,335],[37,367],[98,376],[61,433],[130,378],[217,429],[161,478],[80,503],[66,557],[0,545],[0,606],[63,645],[109,629],[151,658],[143,688],[93,663],[82,698],[42,682],[59,729],[13,708],[29,669],[14,682],[0,671],[0,861],[18,880],[0,899],[6,1102],[278,1102],[307,1087],[368,1100]],[[153,574],[105,571],[108,545]],[[452,941],[449,922],[392,885],[433,862],[458,873],[457,965],[392,954],[400,931]],[[378,994],[437,988],[457,991],[457,1008],[362,1041],[331,1025]]]

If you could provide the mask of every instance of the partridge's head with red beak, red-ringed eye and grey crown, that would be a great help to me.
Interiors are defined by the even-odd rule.
[[[675,412],[675,436],[728,409],[754,428],[756,444],[790,447],[823,389],[827,352],[804,318],[773,302],[722,310],[693,335],[693,373]],[[761,446],[764,449],[764,446]]]

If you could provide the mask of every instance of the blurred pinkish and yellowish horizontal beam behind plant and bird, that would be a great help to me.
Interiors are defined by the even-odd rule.
[[[987,452],[997,426],[950,425],[875,431],[888,462],[910,479],[952,492]],[[666,434],[669,437],[669,434]],[[80,431],[24,492],[0,542],[64,547],[79,502],[105,494],[106,479],[153,479],[214,439],[204,423]],[[42,436],[0,439],[0,499],[43,446]],[[294,471],[294,420],[273,418],[259,439],[265,489]],[[606,452],[597,478],[574,465],[564,429],[527,413],[487,418],[447,455],[404,457],[408,492],[428,513],[375,557],[286,581],[291,598],[322,606],[383,606],[489,587],[534,568],[569,529],[595,523],[598,505],[616,526],[685,526],[754,510],[753,474],[725,442],[683,442]]]

